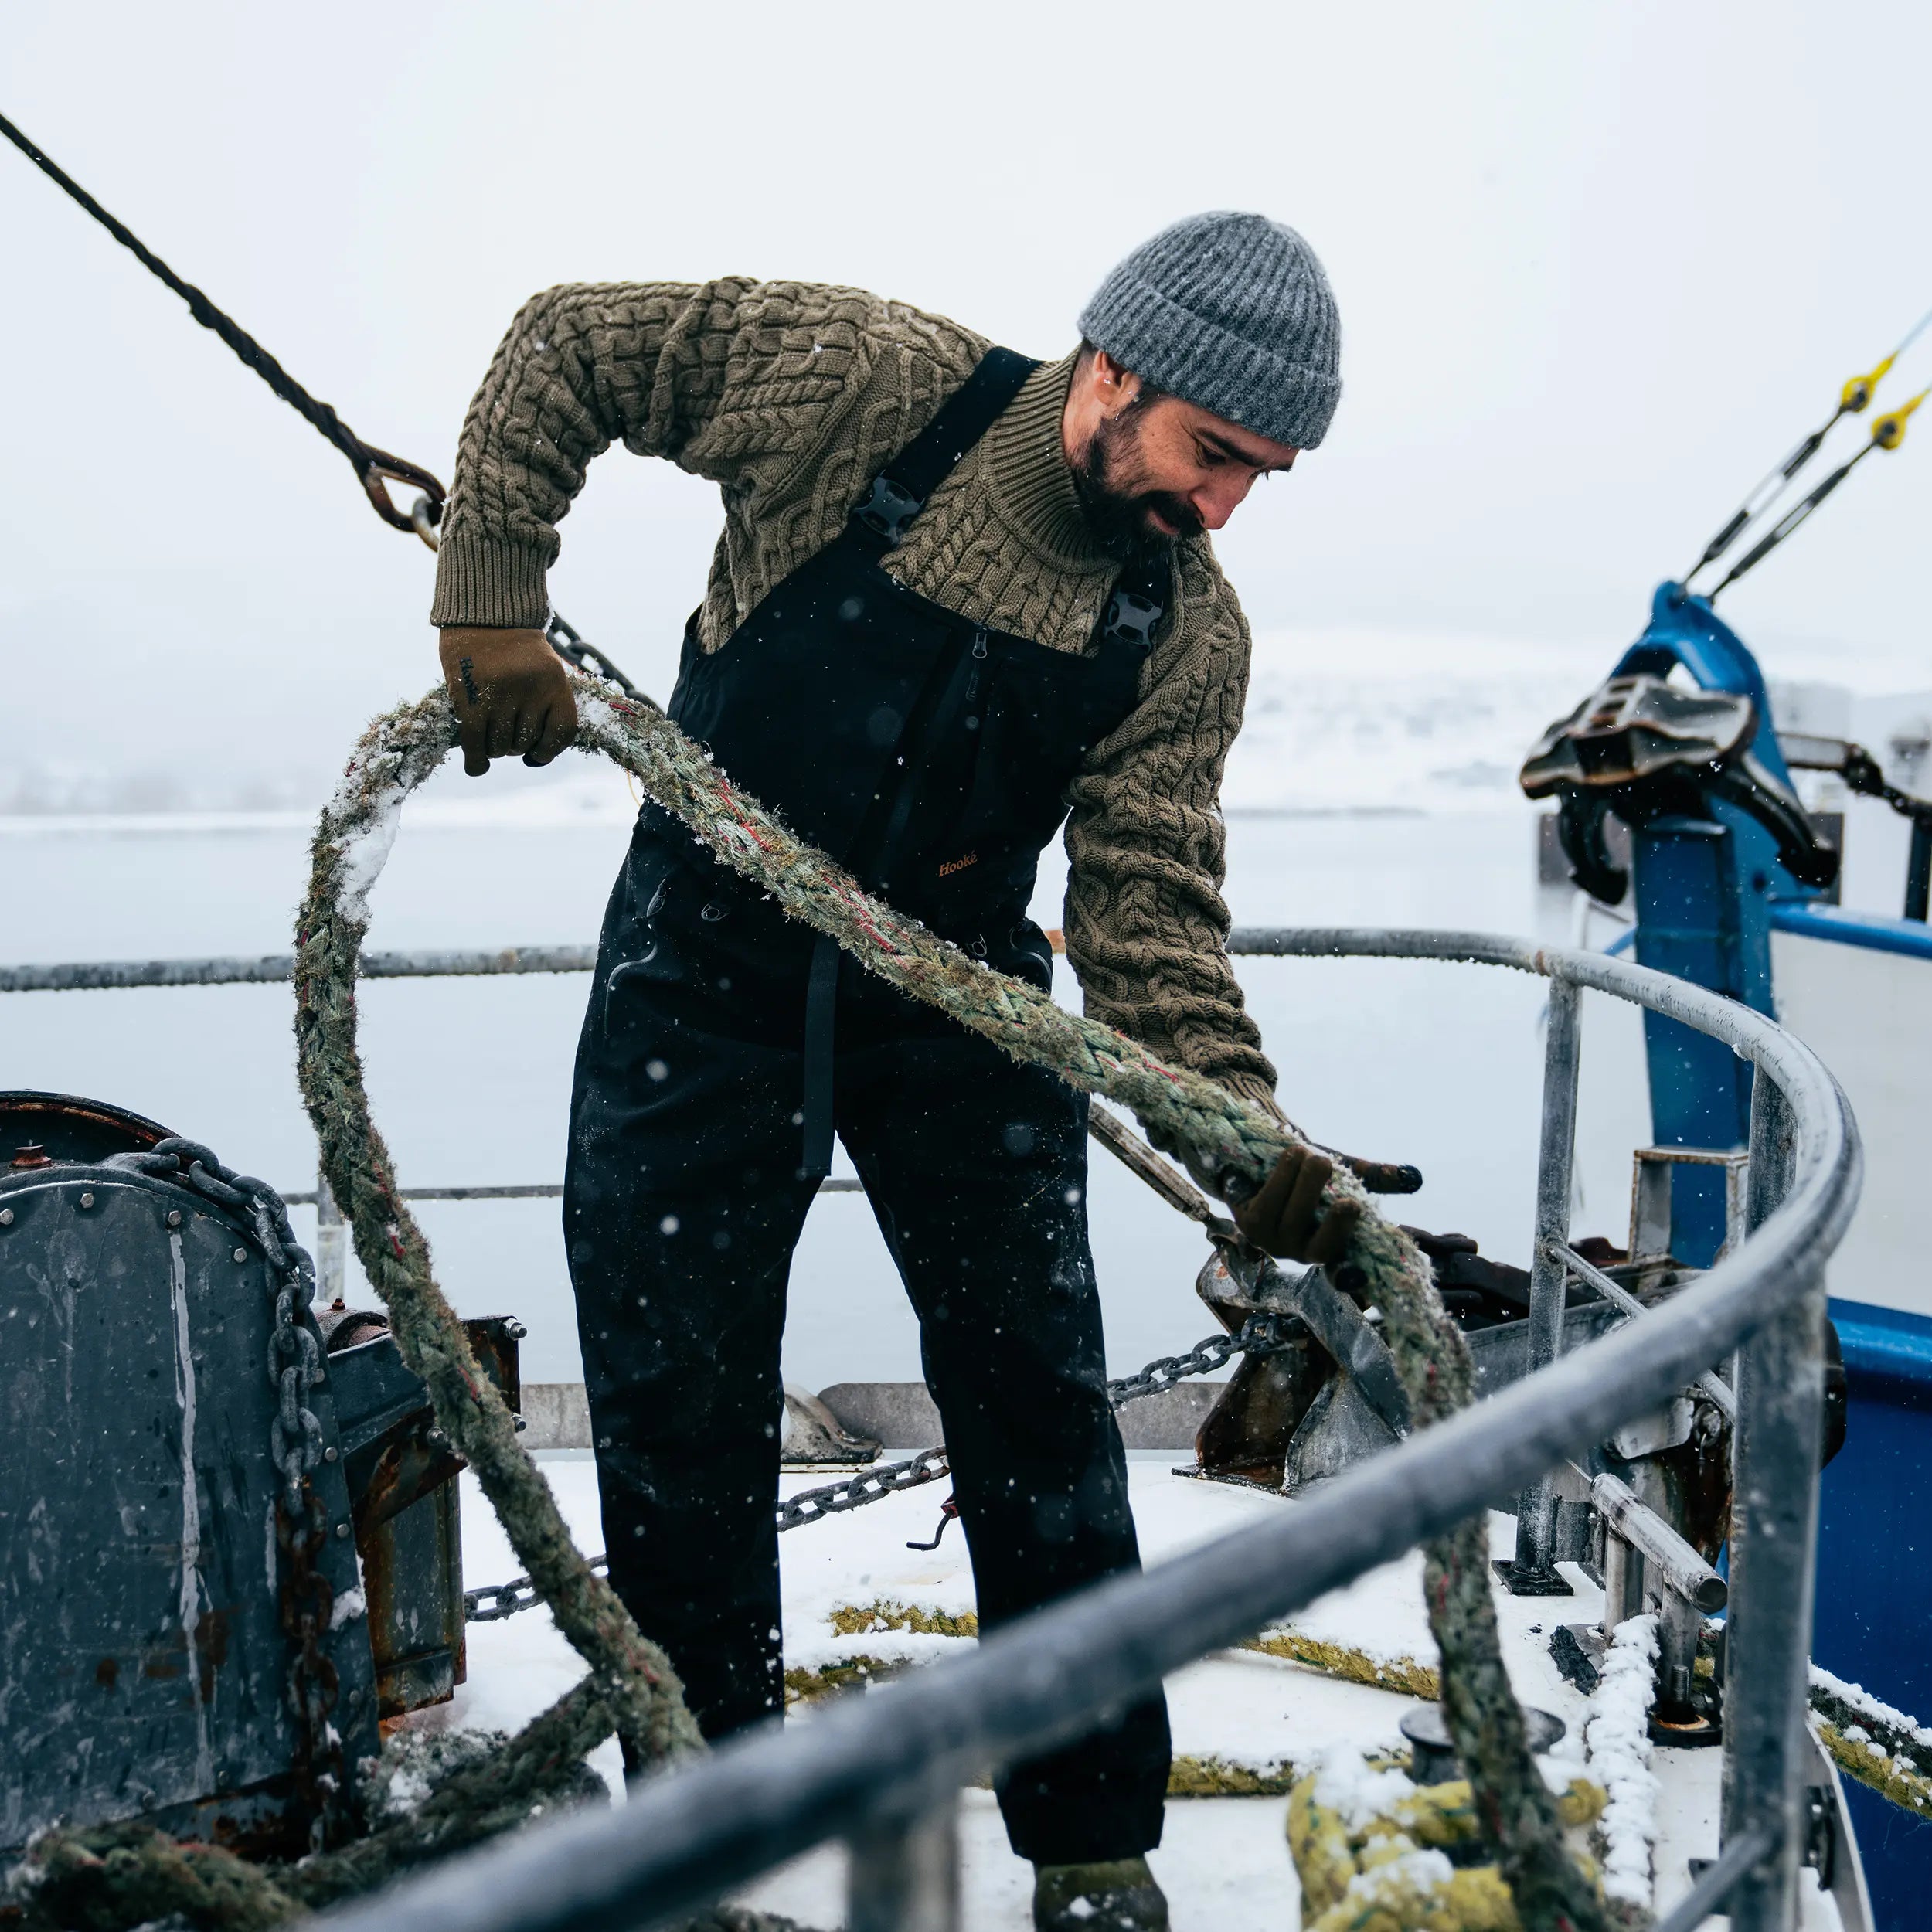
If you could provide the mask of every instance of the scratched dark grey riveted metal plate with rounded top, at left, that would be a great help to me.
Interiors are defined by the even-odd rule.
[[[296,1735],[270,1279],[182,1188],[0,1171],[0,1849],[56,1818],[272,1835]],[[317,1488],[342,1534],[321,1567],[354,1764],[377,1748],[375,1685],[328,1395]]]

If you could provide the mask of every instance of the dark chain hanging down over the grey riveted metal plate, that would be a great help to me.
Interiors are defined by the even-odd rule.
[[[282,1478],[274,1503],[274,1540],[282,1551],[282,1633],[294,1646],[288,1704],[296,1716],[296,1789],[309,1816],[311,1841],[327,1839],[348,1795],[342,1737],[330,1723],[342,1689],[323,1648],[334,1613],[334,1588],[317,1567],[328,1540],[328,1511],[315,1490],[323,1461],[323,1424],[307,1403],[323,1381],[323,1343],[315,1327],[315,1264],[296,1240],[288,1206],[267,1180],[238,1175],[195,1140],[170,1136],[149,1153],[124,1153],[116,1165],[191,1188],[240,1215],[274,1271],[274,1325],[269,1331],[269,1383],[276,1393],[269,1457]],[[240,1260],[240,1250],[238,1256]],[[193,1470],[184,1472],[193,1482]]]

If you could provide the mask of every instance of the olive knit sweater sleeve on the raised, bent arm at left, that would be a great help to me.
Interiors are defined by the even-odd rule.
[[[864,371],[881,307],[742,278],[533,296],[464,417],[431,622],[541,626],[556,526],[612,442],[726,493],[786,475]]]

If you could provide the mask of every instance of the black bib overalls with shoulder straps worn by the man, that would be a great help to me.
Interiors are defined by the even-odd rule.
[[[1165,572],[1082,657],[974,626],[879,564],[1034,365],[993,350],[844,533],[670,715],[730,779],[1003,972],[1088,750],[1132,709]],[[1138,1561],[1086,1233],[1086,1095],[840,960],[647,804],[578,1049],[564,1231],[611,1580],[705,1733],[782,1708],[773,1503],[792,1248],[837,1126],[920,1318],[987,1627]],[[1159,1843],[1159,1698],[1001,1779],[1014,1851]]]

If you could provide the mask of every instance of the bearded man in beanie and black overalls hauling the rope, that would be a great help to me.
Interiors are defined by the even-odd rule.
[[[1335,299],[1258,214],[1200,214],[1036,365],[846,288],[554,288],[464,425],[435,622],[466,769],[576,728],[543,638],[609,444],[721,487],[670,713],[867,887],[1045,987],[1066,821],[1088,1012],[1273,1109],[1225,954],[1221,771],[1248,626],[1208,531],[1329,427]],[[1068,815],[1070,813],[1070,815]],[[987,1627],[1138,1561],[1086,1231],[1086,1097],[893,993],[647,804],[578,1051],[564,1229],[611,1580],[705,1733],[782,1708],[784,1283],[844,1140],[920,1316]],[[1321,1258],[1327,1163],[1242,1208]],[[1041,1926],[1165,1926],[1159,1698],[1010,1768]],[[1099,1915],[1099,1917],[1095,1917]]]

